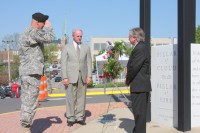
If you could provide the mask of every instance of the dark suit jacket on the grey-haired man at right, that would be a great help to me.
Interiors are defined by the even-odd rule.
[[[144,42],[139,42],[133,49],[127,64],[126,84],[131,92],[149,92],[150,51]]]

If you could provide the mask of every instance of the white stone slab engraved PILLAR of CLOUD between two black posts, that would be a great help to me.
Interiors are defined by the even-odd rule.
[[[177,44],[151,47],[152,121],[178,126]]]

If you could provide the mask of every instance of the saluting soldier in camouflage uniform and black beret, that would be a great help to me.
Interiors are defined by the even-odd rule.
[[[32,15],[31,26],[20,36],[21,114],[23,132],[30,132],[32,119],[36,112],[40,77],[44,67],[44,43],[54,40],[53,28],[42,13]],[[43,27],[46,30],[43,30]]]

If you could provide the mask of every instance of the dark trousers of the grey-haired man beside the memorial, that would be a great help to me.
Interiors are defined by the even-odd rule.
[[[149,92],[132,92],[132,111],[135,118],[133,133],[146,133],[146,113]]]

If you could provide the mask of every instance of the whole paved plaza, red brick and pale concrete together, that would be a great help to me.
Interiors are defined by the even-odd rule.
[[[132,112],[122,102],[86,104],[86,123],[68,127],[64,117],[65,106],[38,108],[32,133],[131,133],[134,126]],[[20,112],[0,114],[0,133],[20,133]],[[181,133],[175,128],[147,123],[147,133]],[[193,128],[187,133],[200,133]]]

